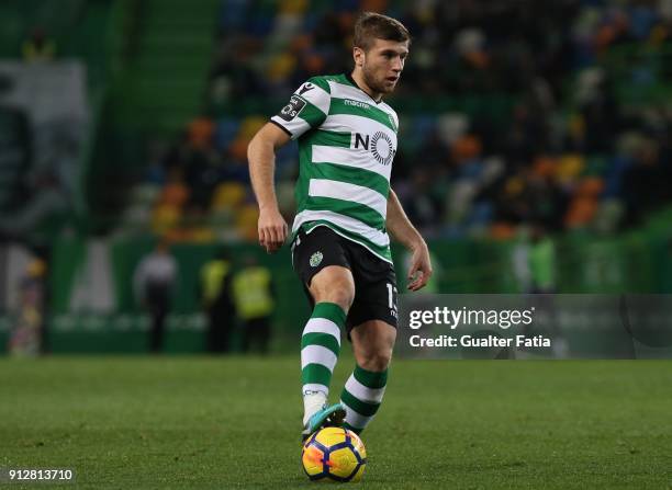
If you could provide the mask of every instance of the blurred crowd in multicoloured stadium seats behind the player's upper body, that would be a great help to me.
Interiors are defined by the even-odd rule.
[[[414,36],[389,98],[401,117],[392,185],[427,236],[508,238],[526,223],[613,232],[672,202],[671,0],[227,0],[209,115],[153,141],[134,212],[172,239],[254,239],[247,143],[305,79],[351,69],[360,10]],[[289,218],[295,145],[277,166]]]

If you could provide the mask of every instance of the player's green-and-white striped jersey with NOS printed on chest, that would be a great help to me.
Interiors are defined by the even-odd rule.
[[[313,77],[271,117],[299,143],[292,233],[327,226],[392,262],[385,228],[396,113],[350,76]]]

